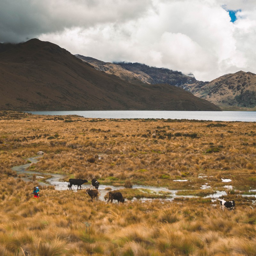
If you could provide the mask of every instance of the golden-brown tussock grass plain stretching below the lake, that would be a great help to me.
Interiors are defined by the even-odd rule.
[[[256,255],[255,128],[1,111],[0,255]],[[13,170],[24,164],[42,175]],[[49,173],[121,187],[125,203],[40,186]],[[207,197],[216,191],[225,195]]]

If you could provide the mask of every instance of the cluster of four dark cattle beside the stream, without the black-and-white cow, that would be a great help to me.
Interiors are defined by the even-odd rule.
[[[77,185],[77,189],[79,188],[79,186],[80,186],[80,189],[82,189],[81,185],[83,185],[86,182],[88,182],[88,180],[69,179],[68,180],[68,188],[72,189],[72,185]],[[100,185],[100,182],[98,180],[92,179],[91,188],[92,187],[95,187],[95,188],[94,189],[86,188],[86,194],[91,196],[92,201],[93,201],[94,198],[96,198],[96,200],[98,201],[98,198],[99,198],[99,193],[98,193],[99,185]],[[113,200],[117,200],[118,203],[119,202],[124,203],[124,197],[123,197],[122,193],[120,193],[120,192],[116,192],[116,191],[108,192],[107,197],[108,197],[107,203],[109,201],[111,201],[111,204],[112,204]]]

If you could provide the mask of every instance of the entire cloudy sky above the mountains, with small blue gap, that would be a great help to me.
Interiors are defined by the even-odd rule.
[[[0,42],[31,38],[202,81],[256,73],[255,0],[0,0]]]

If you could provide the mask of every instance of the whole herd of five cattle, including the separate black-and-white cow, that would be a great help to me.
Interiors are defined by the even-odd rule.
[[[80,186],[80,189],[81,189],[81,185],[88,182],[88,180],[82,180],[82,179],[69,179],[68,181],[68,188],[69,189],[72,189],[72,185],[77,185],[77,189],[79,188]],[[100,185],[100,182],[96,179],[92,179],[92,185],[91,185],[91,188],[92,187],[95,187],[94,189],[91,189],[91,188],[86,188],[86,194],[88,194],[89,196],[91,196],[92,198],[92,201],[94,198],[96,198],[96,200],[98,201],[98,198],[99,198],[99,195],[98,195],[98,188],[99,188],[99,185]],[[117,200],[118,203],[121,202],[121,203],[124,203],[124,197],[122,195],[122,193],[120,192],[115,192],[115,191],[112,191],[112,192],[108,192],[107,194],[107,197],[108,197],[108,201],[111,201],[111,203],[113,202],[113,200]],[[234,208],[235,208],[235,201],[232,200],[232,201],[220,201],[220,209],[222,209],[224,211],[224,208],[227,208],[229,209],[230,211],[232,211]]]

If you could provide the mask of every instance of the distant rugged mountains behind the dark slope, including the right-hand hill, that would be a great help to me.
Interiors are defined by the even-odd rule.
[[[190,75],[168,68],[149,67],[140,63],[103,62],[79,54],[77,58],[95,69],[114,74],[132,82],[134,77],[148,84],[170,84],[181,87],[195,96],[206,99],[223,110],[256,110],[256,75],[239,71],[220,76],[210,82],[198,81]]]

